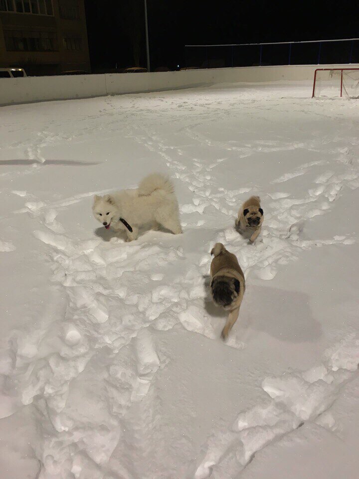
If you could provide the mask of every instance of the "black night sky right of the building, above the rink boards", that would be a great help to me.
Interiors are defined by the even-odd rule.
[[[114,69],[116,64],[118,68],[146,66],[144,1],[85,0],[85,5],[92,69]],[[359,2],[353,0],[147,0],[147,5],[152,70],[161,66],[175,69],[177,65],[185,66],[185,62],[205,60],[208,53],[204,50],[185,53],[185,44],[359,37]],[[287,62],[287,47],[282,51],[276,48],[263,53],[264,63]],[[316,62],[317,48],[307,45],[301,52],[294,51],[299,56],[293,61]],[[337,56],[344,55],[338,61],[346,61],[350,45],[344,44],[325,45],[322,59],[334,62],[336,48]],[[357,49],[359,55],[356,44],[355,54]],[[252,48],[244,54],[217,49],[209,56],[219,61],[218,66],[230,66],[231,61],[255,64],[258,51]],[[225,65],[221,64],[223,61]]]

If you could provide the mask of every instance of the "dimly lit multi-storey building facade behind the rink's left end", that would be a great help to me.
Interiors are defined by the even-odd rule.
[[[0,0],[0,67],[90,72],[84,0]]]

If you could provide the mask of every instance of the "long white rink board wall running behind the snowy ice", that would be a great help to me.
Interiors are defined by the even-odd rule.
[[[213,83],[313,80],[314,71],[320,66],[248,66],[156,73],[0,78],[0,105],[174,90]],[[357,63],[322,66],[325,68],[359,68]],[[311,92],[308,93],[308,96],[311,96]]]

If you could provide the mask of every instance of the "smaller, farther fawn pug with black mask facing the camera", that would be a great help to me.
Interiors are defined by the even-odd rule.
[[[235,220],[235,228],[238,233],[249,238],[253,243],[261,232],[263,219],[259,196],[251,196],[241,206],[238,218]]]

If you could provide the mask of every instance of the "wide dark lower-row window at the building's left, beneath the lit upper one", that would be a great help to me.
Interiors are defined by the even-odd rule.
[[[55,31],[4,30],[7,51],[56,51]]]

